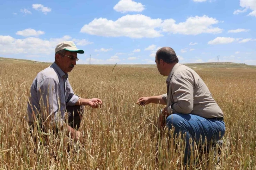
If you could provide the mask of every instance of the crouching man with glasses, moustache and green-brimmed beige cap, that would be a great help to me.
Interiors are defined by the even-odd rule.
[[[77,53],[83,54],[84,51],[77,49],[72,41],[57,44],[54,63],[39,72],[31,85],[27,110],[30,125],[41,118],[39,121],[42,121],[42,128],[43,122],[46,121],[55,122],[55,125],[64,125],[67,112],[68,132],[74,140],[80,137],[77,129],[80,126],[84,106],[92,108],[102,106],[100,99],[83,99],[73,92],[68,81],[68,73],[78,61]]]

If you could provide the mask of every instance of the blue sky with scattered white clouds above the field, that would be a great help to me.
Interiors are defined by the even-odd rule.
[[[77,64],[154,64],[170,46],[180,63],[256,65],[256,0],[1,1],[0,57],[54,61],[62,40]]]

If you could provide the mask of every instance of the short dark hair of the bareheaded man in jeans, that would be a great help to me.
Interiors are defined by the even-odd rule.
[[[160,62],[162,59],[165,63],[178,63],[179,59],[175,53],[175,51],[170,47],[163,47],[157,50],[156,53],[157,61]]]

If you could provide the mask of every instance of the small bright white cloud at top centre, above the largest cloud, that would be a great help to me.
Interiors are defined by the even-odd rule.
[[[113,8],[117,12],[141,12],[145,10],[145,5],[140,2],[135,2],[132,0],[120,0]]]

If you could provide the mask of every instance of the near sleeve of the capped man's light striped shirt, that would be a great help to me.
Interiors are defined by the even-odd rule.
[[[43,120],[46,120],[52,114],[54,117],[49,117],[48,119],[51,119],[51,121],[59,120],[57,115],[59,110],[59,86],[57,81],[54,78],[45,78],[38,82],[37,88],[37,96]]]

